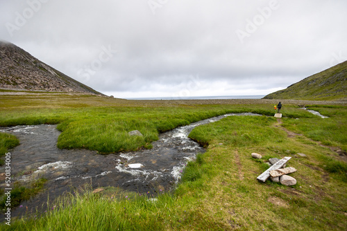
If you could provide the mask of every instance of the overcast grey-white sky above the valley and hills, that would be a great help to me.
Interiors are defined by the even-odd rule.
[[[0,39],[117,98],[266,95],[347,59],[346,0],[0,0]]]

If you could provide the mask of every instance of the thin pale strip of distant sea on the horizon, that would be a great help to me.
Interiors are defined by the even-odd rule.
[[[261,99],[265,95],[220,95],[220,96],[187,96],[187,97],[153,97],[153,98],[125,98],[126,100],[244,100]]]

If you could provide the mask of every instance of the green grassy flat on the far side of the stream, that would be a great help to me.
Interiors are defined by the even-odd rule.
[[[145,104],[90,95],[17,95],[4,97],[1,102],[0,126],[59,124],[58,129],[62,131],[58,138],[59,148],[86,148],[103,154],[151,147],[160,132],[217,115],[244,112],[273,115],[271,104]],[[283,110],[290,118],[314,116],[291,105]],[[144,136],[129,136],[128,132],[133,130],[139,130]],[[251,133],[245,134],[243,138],[248,140],[251,136]]]

